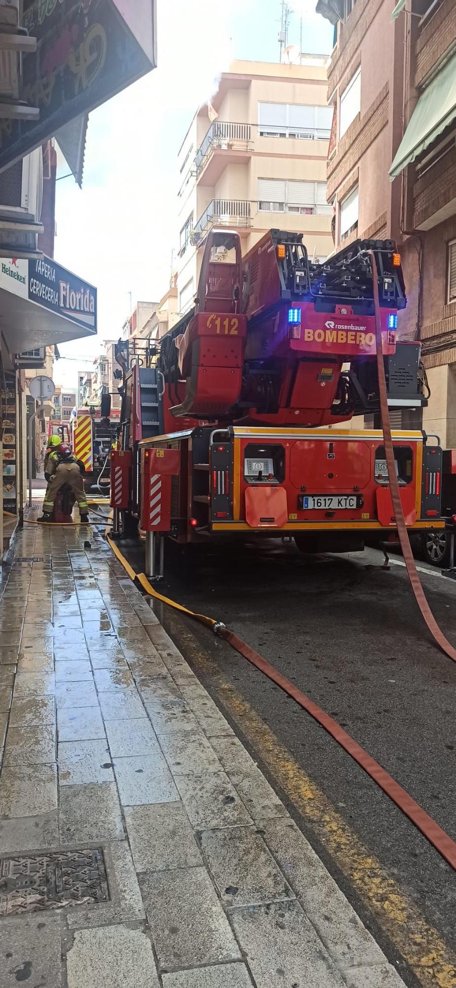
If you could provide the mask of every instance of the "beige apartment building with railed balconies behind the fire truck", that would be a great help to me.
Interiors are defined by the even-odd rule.
[[[273,227],[302,231],[310,257],[332,251],[327,85],[324,56],[235,61],[195,114],[179,152],[180,315],[192,305],[213,226],[238,230],[244,254]]]

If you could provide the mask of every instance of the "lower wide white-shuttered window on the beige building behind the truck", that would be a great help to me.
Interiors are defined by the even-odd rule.
[[[295,212],[303,216],[329,215],[326,182],[298,182],[290,179],[259,179],[259,209],[262,212]]]

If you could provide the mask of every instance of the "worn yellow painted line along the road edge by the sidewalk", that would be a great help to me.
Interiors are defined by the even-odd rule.
[[[171,619],[173,619],[172,616]],[[183,636],[180,627],[180,636]],[[211,688],[303,820],[327,849],[378,926],[414,971],[423,988],[455,988],[456,953],[421,916],[388,869],[369,853],[324,792],[279,741],[261,716],[226,681],[218,666],[185,631],[197,671],[210,673]]]

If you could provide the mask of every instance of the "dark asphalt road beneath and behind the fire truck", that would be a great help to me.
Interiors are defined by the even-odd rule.
[[[123,543],[122,551],[135,569],[143,569],[143,546]],[[330,713],[456,840],[456,665],[429,640],[400,557],[389,571],[379,568],[381,561],[375,550],[312,559],[294,544],[274,540],[198,550],[193,557],[172,549],[162,592],[233,628]],[[456,642],[456,581],[435,571],[420,575],[435,617]],[[451,867],[338,744],[258,670],[188,618],[169,608],[159,617],[214,700],[221,705],[216,668],[456,956]],[[235,726],[267,776],[261,742],[248,730],[243,735],[239,722]],[[363,915],[359,888],[340,873],[318,827],[293,800],[288,808]],[[369,922],[365,913],[363,919]],[[388,933],[375,932],[398,960]],[[402,973],[411,985],[456,984],[451,976],[421,982]]]

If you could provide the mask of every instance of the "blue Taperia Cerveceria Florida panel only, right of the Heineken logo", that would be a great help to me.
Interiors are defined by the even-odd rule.
[[[53,261],[29,262],[29,298],[73,322],[95,328],[97,291]],[[35,271],[33,270],[35,268]]]

